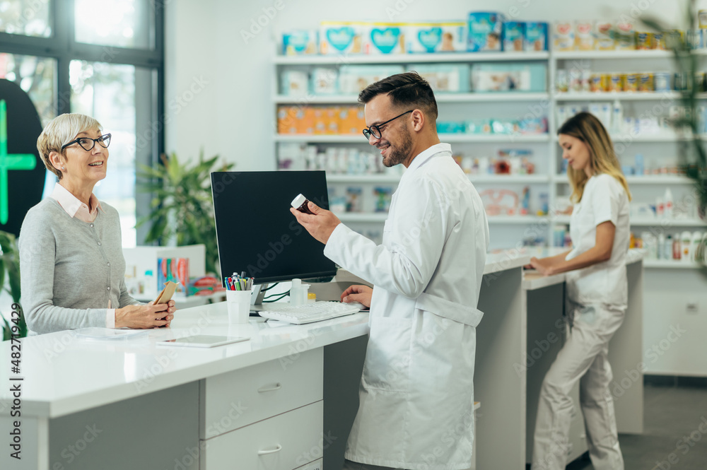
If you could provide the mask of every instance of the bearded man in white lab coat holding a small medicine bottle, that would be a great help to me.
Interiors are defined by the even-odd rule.
[[[363,134],[387,167],[407,168],[375,245],[310,202],[292,209],[329,259],[375,286],[360,406],[344,469],[468,469],[472,458],[477,310],[489,225],[476,189],[437,136],[437,102],[418,74],[358,95]]]

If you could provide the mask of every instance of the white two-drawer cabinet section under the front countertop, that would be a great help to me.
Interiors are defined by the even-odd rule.
[[[323,350],[317,348],[202,380],[201,470],[317,469],[323,376]]]

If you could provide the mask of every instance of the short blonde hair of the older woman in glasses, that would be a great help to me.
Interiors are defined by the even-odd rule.
[[[98,121],[93,117],[86,116],[86,114],[61,114],[52,119],[37,139],[37,150],[40,152],[47,170],[57,175],[61,180],[62,170],[54,168],[52,161],[49,160],[49,153],[57,152],[65,158],[66,149],[62,150],[62,146],[76,139],[76,136],[81,132],[102,129],[103,127]]]

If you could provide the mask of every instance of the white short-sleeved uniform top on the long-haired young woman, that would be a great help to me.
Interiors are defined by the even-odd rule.
[[[572,251],[566,259],[592,248],[597,225],[611,221],[616,227],[612,257],[605,262],[566,275],[567,295],[581,304],[626,305],[629,288],[626,281],[626,253],[629,251],[629,196],[611,175],[592,176],[585,185],[582,200],[575,204],[570,219]]]

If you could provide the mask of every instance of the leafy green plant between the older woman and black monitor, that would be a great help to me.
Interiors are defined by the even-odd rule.
[[[206,272],[218,275],[218,247],[214,204],[211,200],[210,173],[227,171],[233,164],[224,163],[214,170],[218,155],[190,165],[180,163],[177,155],[162,155],[162,165],[151,168],[140,165],[138,177],[146,180],[138,184],[139,192],[154,195],[150,213],[137,226],[151,223],[146,242],[176,242],[177,246],[202,244],[206,247]],[[220,277],[220,276],[218,276]]]

